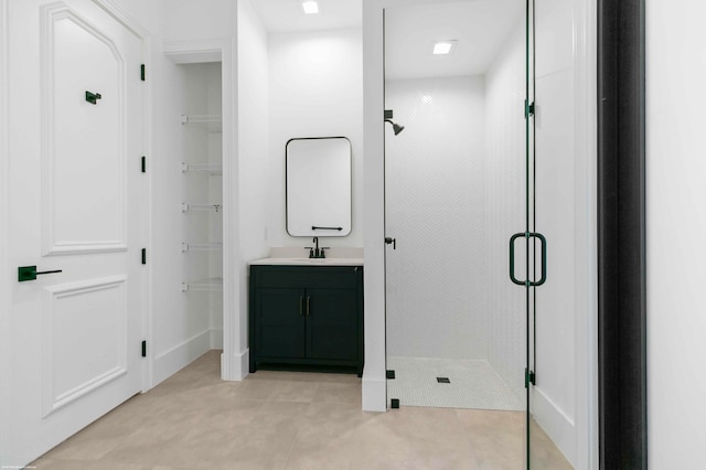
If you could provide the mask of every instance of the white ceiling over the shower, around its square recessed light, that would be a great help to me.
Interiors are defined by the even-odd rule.
[[[482,75],[513,30],[524,32],[523,0],[466,0],[385,10],[385,77]],[[449,55],[435,41],[457,40]]]

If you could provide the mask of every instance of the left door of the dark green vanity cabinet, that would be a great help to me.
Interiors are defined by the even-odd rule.
[[[303,289],[255,291],[257,355],[272,359],[306,356]]]

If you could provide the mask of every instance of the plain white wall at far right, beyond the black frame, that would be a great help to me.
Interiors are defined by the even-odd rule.
[[[706,62],[697,0],[646,1],[649,461],[700,468],[706,442]]]

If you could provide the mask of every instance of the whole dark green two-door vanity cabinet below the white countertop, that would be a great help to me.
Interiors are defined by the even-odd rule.
[[[363,267],[252,265],[250,372],[363,374]]]

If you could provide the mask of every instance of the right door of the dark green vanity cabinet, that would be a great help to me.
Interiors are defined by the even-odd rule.
[[[357,291],[310,288],[307,301],[307,357],[355,361]]]

